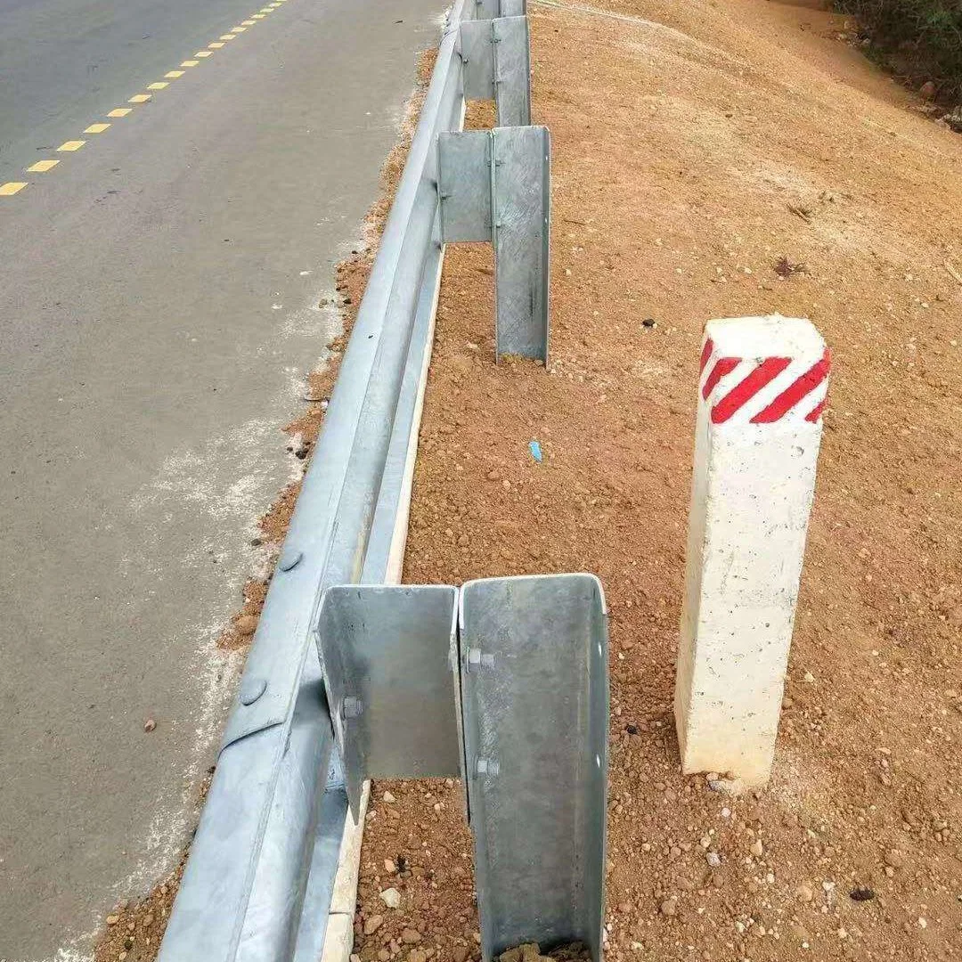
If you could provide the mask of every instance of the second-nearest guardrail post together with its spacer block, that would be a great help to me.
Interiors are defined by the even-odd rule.
[[[547,362],[551,137],[495,127],[438,137],[443,242],[494,244],[494,350]]]

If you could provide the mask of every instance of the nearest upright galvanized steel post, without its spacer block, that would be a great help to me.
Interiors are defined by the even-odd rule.
[[[601,959],[608,629],[591,574],[469,581],[459,645],[481,954],[584,942]],[[494,654],[469,671],[470,652]]]

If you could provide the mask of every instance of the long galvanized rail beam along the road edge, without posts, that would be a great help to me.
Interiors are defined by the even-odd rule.
[[[326,799],[324,779],[316,777],[325,771],[332,735],[311,632],[324,588],[357,580],[362,566],[374,572],[389,564],[387,556],[367,557],[368,538],[412,355],[420,291],[425,284],[432,295],[436,290],[435,141],[441,131],[462,124],[455,47],[457,25],[470,13],[466,0],[457,0],[450,14],[228,720],[160,962],[282,962],[294,953],[302,956],[302,936],[323,942],[331,886],[315,876],[333,879],[337,860],[316,859],[314,851],[339,820],[342,826],[346,797]],[[383,546],[379,541],[378,550]],[[295,706],[304,710],[298,714]],[[304,913],[317,924],[302,925]]]

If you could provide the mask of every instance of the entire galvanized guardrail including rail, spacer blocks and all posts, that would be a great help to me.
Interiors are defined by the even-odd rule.
[[[449,13],[160,962],[317,962],[364,780],[431,774],[465,780],[486,962],[527,940],[583,941],[600,962],[600,585],[395,585],[445,241],[494,244],[496,355],[547,356],[550,151],[527,126],[524,14]],[[459,133],[466,94],[493,97],[506,125]]]

